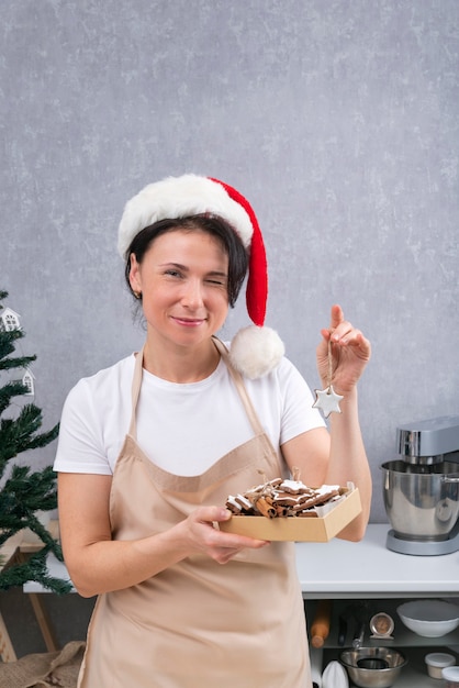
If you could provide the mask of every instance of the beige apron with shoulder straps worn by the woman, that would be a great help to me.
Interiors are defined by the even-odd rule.
[[[224,356],[221,342],[215,344]],[[200,504],[223,506],[281,475],[240,376],[229,367],[255,436],[200,476],[169,474],[136,444],[143,354],[136,358],[130,433],[116,462],[114,540],[163,532]],[[193,555],[139,585],[101,595],[79,688],[311,688],[294,545],[244,550],[228,564]]]

